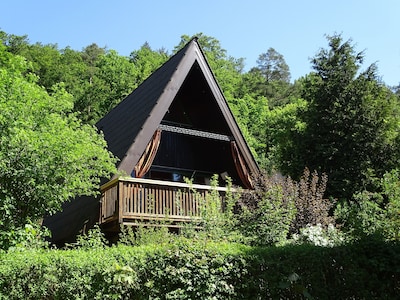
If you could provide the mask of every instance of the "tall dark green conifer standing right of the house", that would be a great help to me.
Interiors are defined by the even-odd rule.
[[[326,173],[328,195],[350,199],[398,163],[399,106],[375,65],[360,70],[364,53],[351,41],[334,35],[328,42],[303,81],[306,127],[295,139],[296,161],[284,169],[295,177],[305,166]]]

